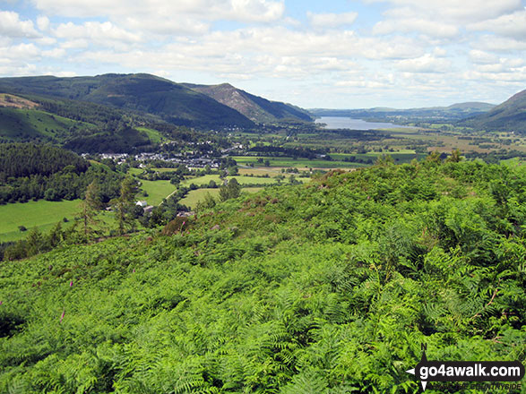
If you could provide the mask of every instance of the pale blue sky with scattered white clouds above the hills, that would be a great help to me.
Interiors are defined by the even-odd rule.
[[[0,76],[152,73],[305,108],[498,104],[526,0],[0,0]]]

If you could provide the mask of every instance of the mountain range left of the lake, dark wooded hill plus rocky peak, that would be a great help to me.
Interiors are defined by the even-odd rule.
[[[223,86],[228,89],[220,88]],[[145,73],[0,78],[0,92],[87,101],[197,127],[254,127],[254,122],[286,118],[312,120],[305,110],[251,95],[228,84],[189,85]],[[245,99],[243,105],[237,105],[238,98]]]

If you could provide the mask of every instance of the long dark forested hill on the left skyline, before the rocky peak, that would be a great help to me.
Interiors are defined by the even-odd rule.
[[[2,78],[0,91],[90,101],[160,116],[174,124],[253,125],[245,116],[208,96],[150,74]]]

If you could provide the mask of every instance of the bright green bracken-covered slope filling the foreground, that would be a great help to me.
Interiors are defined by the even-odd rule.
[[[526,171],[457,159],[2,262],[0,392],[417,393],[422,343],[524,360]]]

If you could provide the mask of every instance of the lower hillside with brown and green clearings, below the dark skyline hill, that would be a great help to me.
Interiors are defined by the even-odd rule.
[[[139,114],[87,101],[49,98],[36,94],[28,99],[0,94],[0,141],[51,142],[79,153],[130,153],[152,150],[162,141],[201,141],[211,136],[185,126],[168,124],[160,116]],[[18,100],[18,101],[15,101]]]

